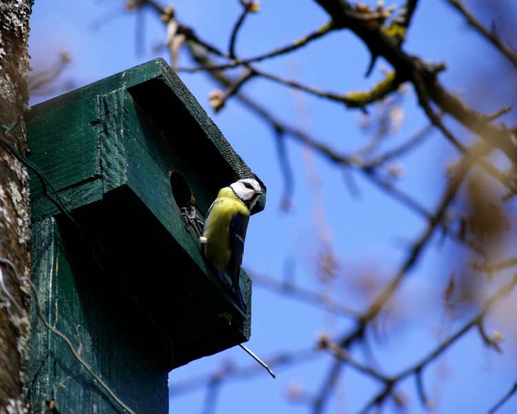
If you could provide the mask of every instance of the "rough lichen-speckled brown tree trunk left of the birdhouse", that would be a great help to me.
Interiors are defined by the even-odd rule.
[[[32,0],[0,1],[0,413],[26,413],[30,199],[23,112],[28,106]]]

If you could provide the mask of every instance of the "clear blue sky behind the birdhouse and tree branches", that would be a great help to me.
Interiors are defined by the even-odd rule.
[[[237,50],[245,56],[284,46],[327,22],[325,13],[312,1],[263,0],[261,3],[261,13],[247,19],[239,39]],[[183,0],[175,1],[174,6],[178,19],[196,28],[201,38],[221,48],[227,46],[229,28],[240,10],[238,1]],[[490,21],[488,15],[483,17]],[[163,24],[151,12],[140,15],[125,12],[122,1],[37,0],[31,26],[32,66],[37,69],[49,67],[57,61],[61,50],[67,50],[72,63],[61,81],[73,81],[74,88],[155,57],[170,61],[162,46],[165,37]],[[469,95],[471,84],[467,75],[470,75],[471,68],[490,74],[491,63],[497,59],[484,46],[478,34],[467,30],[463,19],[445,1],[421,0],[405,49],[429,61],[447,61],[447,71],[440,76],[445,86],[462,94],[474,107],[492,112],[499,109],[496,104],[501,100],[505,103],[505,93],[509,95],[511,92],[502,90],[504,88],[500,87],[496,77],[487,77],[485,99]],[[381,79],[385,63],[380,60],[372,77],[365,79],[363,75],[368,63],[369,55],[363,44],[352,34],[339,32],[292,57],[264,63],[261,68],[281,77],[296,77],[322,90],[346,92],[368,88]],[[181,53],[180,66],[189,65]],[[368,272],[381,274],[386,279],[392,277],[407,255],[407,246],[425,229],[421,217],[387,197],[357,173],[352,178],[360,194],[353,195],[345,184],[346,174],[341,168],[327,164],[320,156],[294,141],[287,144],[295,186],[293,207],[286,213],[280,206],[283,179],[271,130],[233,101],[220,113],[214,113],[207,100],[214,85],[203,75],[179,75],[236,152],[267,186],[266,209],[252,217],[248,229],[243,262],[248,272],[277,279],[289,273],[295,275],[301,286],[323,290],[338,297],[345,306],[354,307],[362,302],[356,300],[353,292],[344,290],[349,285],[343,282],[343,278],[364,277]],[[64,91],[58,93],[61,92]],[[290,124],[304,128],[318,140],[344,153],[367,143],[367,135],[358,128],[361,121],[358,111],[345,110],[336,103],[285,90],[269,81],[254,81],[247,93],[260,99]],[[31,102],[37,103],[41,99],[48,97],[33,97]],[[411,90],[407,91],[402,107],[405,123],[400,135],[407,139],[421,130],[425,121]],[[505,120],[511,119],[515,119],[515,115],[509,115]],[[388,145],[396,146],[400,142],[397,139],[394,135],[393,142]],[[401,160],[405,177],[399,185],[432,210],[443,190],[445,167],[455,158],[451,146],[444,144],[444,139],[434,132],[411,157]],[[322,243],[321,217],[329,230],[338,259],[340,278],[330,286],[322,286],[315,277],[314,262]],[[416,362],[426,351],[434,348],[443,335],[460,326],[460,321],[454,320],[444,324],[445,316],[440,311],[439,301],[454,252],[454,246],[448,243],[440,246],[436,238],[403,285],[394,308],[396,315],[399,312],[403,315],[382,321],[382,340],[379,344],[372,339],[372,346],[376,360],[386,373],[397,373],[408,362]],[[513,302],[502,306],[503,310],[515,311]],[[361,311],[362,308],[357,309]],[[252,311],[252,337],[247,346],[266,360],[285,351],[309,350],[314,347],[318,333],[326,331],[331,337],[342,335],[350,322],[345,317],[325,313],[316,306],[302,304],[261,286],[254,286]],[[435,412],[484,413],[509,391],[516,380],[517,347],[516,332],[511,331],[511,324],[504,316],[505,313],[500,311],[489,319],[490,328],[509,329],[505,331],[507,339],[503,343],[503,355],[485,348],[479,335],[472,331],[425,370],[426,389],[436,404]],[[361,353],[354,356],[368,360]],[[175,384],[192,377],[210,375],[227,362],[237,366],[254,365],[254,361],[240,348],[232,348],[172,371],[170,386],[174,388]],[[288,402],[285,393],[292,386],[301,386],[310,394],[317,393],[329,362],[328,355],[318,354],[301,364],[273,366],[277,375],[275,380],[257,368],[256,375],[250,378],[238,378],[223,384],[212,412],[309,413],[303,404]],[[348,371],[342,377],[343,383],[339,384],[336,398],[332,399],[327,413],[356,413],[372,397],[375,382]],[[414,379],[410,377],[403,388],[409,398],[408,412],[427,413],[418,401]],[[205,397],[205,387],[174,395],[170,400],[170,413],[201,413]],[[386,412],[396,412],[392,405],[387,407],[390,409]],[[516,411],[517,397],[514,397],[498,414]]]

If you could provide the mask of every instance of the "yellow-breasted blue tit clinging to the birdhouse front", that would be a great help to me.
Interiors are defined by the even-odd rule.
[[[203,235],[199,237],[206,259],[219,271],[230,276],[232,290],[239,306],[246,306],[239,286],[250,211],[262,194],[256,179],[244,178],[221,188],[210,206]]]

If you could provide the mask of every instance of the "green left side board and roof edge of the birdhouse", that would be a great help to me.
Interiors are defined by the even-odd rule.
[[[31,108],[29,159],[45,171],[56,190],[78,186],[101,174],[97,97],[159,76],[164,63],[163,59],[150,61]],[[32,181],[31,192],[38,198],[41,186]]]

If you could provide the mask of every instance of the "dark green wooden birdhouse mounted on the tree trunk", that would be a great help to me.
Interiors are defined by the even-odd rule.
[[[204,221],[219,188],[258,178],[163,59],[34,106],[27,136],[32,278],[74,349],[34,297],[32,409],[168,413],[171,369],[251,332],[250,278],[243,313],[182,209]]]

